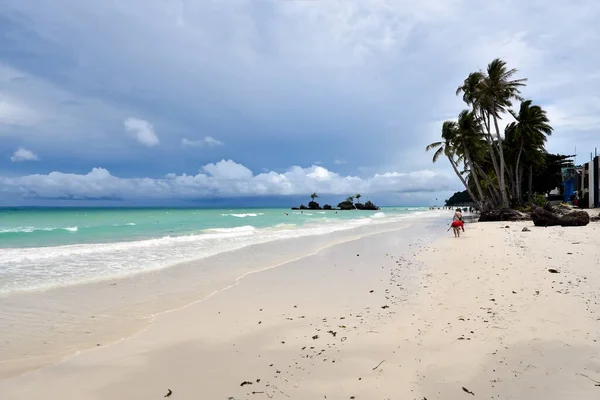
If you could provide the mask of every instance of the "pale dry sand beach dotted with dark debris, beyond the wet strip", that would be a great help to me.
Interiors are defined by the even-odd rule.
[[[1,397],[600,398],[600,223],[466,230],[368,236],[249,275],[0,381]]]

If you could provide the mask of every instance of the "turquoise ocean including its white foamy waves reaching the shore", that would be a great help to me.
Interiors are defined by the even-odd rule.
[[[0,294],[123,277],[426,210],[0,208]]]

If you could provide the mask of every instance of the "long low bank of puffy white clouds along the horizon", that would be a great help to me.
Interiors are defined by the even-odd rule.
[[[394,194],[439,192],[456,188],[456,180],[432,171],[389,172],[370,178],[342,176],[320,166],[294,166],[284,173],[254,175],[244,165],[221,160],[203,166],[197,175],[168,174],[164,178],[119,178],[103,168],[85,175],[0,177],[0,193],[22,199],[195,199],[265,195],[348,193]]]

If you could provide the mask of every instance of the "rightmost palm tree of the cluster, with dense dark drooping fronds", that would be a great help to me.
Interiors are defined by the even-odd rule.
[[[523,182],[522,156],[525,154],[529,158],[530,162],[528,162],[528,165],[532,167],[533,163],[531,161],[540,159],[539,155],[544,151],[546,137],[552,134],[553,129],[550,126],[550,120],[546,115],[546,111],[540,106],[532,105],[531,100],[523,101],[518,113],[513,110],[509,110],[509,112],[516,122],[510,123],[506,127],[506,140],[513,150],[517,152],[514,179],[516,196],[518,201],[521,202],[521,183]]]

